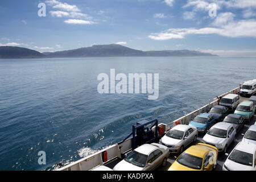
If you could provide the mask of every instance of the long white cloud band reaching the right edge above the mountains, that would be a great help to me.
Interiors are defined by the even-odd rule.
[[[217,34],[227,36],[230,38],[251,37],[256,38],[256,20],[239,20],[238,22],[231,22],[219,28],[205,27],[205,28],[170,28],[166,31],[151,34],[148,36],[154,40],[168,40],[168,39],[183,39],[185,35],[207,35]]]

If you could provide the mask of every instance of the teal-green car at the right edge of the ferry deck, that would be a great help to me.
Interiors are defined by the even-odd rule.
[[[254,117],[255,106],[251,101],[242,101],[237,109],[234,111],[234,114],[242,115],[247,121],[250,121]]]

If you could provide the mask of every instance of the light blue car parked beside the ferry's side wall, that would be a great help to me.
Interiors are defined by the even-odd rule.
[[[199,133],[207,133],[212,125],[216,122],[213,114],[201,113],[197,115],[190,123],[189,126],[196,127]]]

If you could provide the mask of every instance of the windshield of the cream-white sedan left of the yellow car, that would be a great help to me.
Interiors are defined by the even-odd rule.
[[[125,158],[125,161],[138,167],[144,167],[147,162],[147,155],[141,154],[137,151],[133,151]]]

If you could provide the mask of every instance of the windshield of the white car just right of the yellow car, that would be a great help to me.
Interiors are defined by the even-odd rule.
[[[230,154],[229,160],[246,166],[253,166],[253,154],[247,152],[234,150],[232,154]]]

